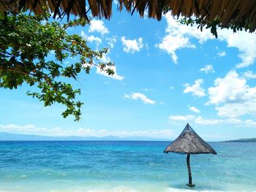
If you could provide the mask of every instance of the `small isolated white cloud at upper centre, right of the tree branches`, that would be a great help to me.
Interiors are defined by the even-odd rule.
[[[135,53],[135,51],[140,51],[143,47],[143,39],[140,37],[139,39],[125,39],[125,37],[121,37],[121,42],[124,45],[124,51],[127,53]]]

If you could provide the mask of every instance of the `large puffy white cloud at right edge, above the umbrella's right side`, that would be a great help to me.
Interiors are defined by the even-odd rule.
[[[256,87],[249,87],[246,79],[236,71],[230,71],[224,78],[217,78],[214,87],[208,88],[209,101],[217,105],[220,117],[237,118],[242,115],[256,115]]]

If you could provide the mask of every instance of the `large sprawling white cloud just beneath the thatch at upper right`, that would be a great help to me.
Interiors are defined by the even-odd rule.
[[[201,44],[209,39],[215,39],[211,34],[210,29],[203,28],[201,32],[197,25],[187,26],[178,23],[171,12],[165,14],[167,20],[167,28],[165,28],[166,35],[163,37],[162,42],[157,45],[161,50],[166,51],[173,61],[177,63],[178,56],[176,50],[181,48],[194,48],[191,39],[197,39]],[[237,68],[246,67],[254,64],[256,59],[256,35],[250,34],[248,31],[237,31],[233,33],[230,29],[218,29],[218,40],[227,42],[227,47],[236,47],[240,54],[241,63],[237,64]],[[225,52],[219,53],[224,56]]]

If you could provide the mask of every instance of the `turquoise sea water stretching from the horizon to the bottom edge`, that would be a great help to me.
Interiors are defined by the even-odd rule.
[[[256,191],[256,143],[217,155],[163,153],[169,142],[0,142],[0,191]]]

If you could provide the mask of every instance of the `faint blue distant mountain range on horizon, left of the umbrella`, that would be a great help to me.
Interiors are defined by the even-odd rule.
[[[1,141],[165,141],[166,139],[155,139],[148,137],[50,137],[32,134],[11,134],[7,132],[0,132]]]

